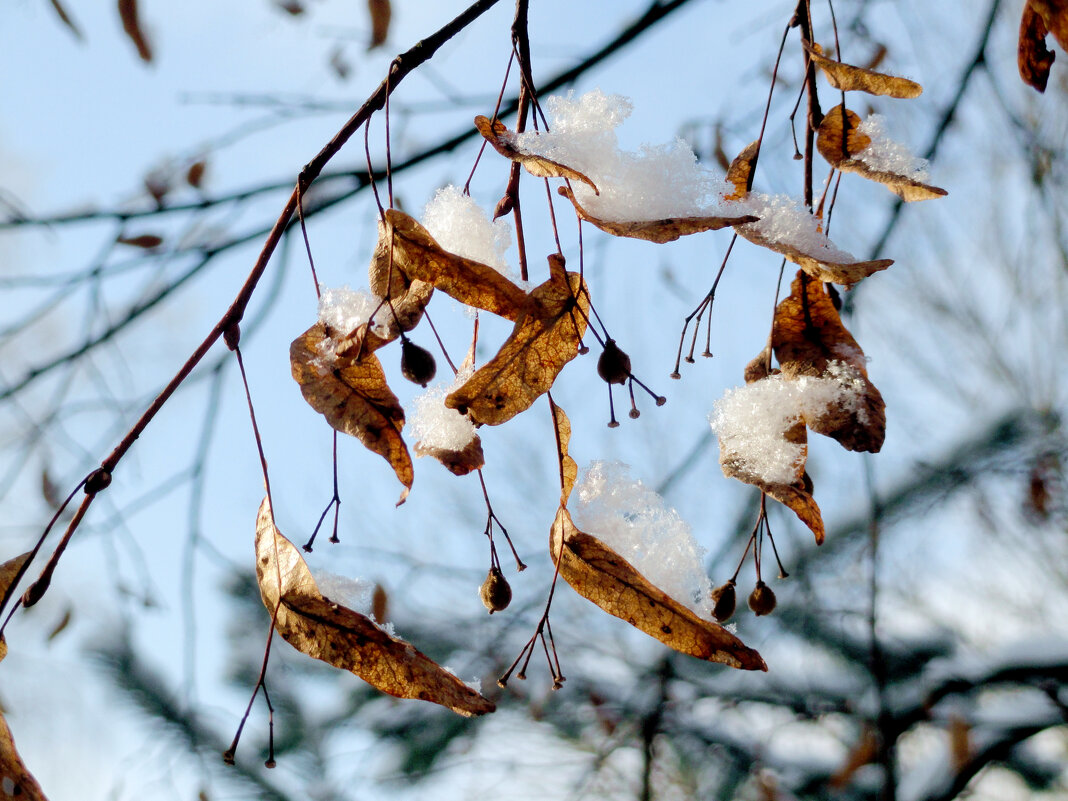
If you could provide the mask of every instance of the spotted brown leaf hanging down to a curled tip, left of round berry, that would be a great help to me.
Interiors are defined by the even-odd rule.
[[[404,503],[414,478],[400,437],[404,409],[386,382],[378,357],[337,357],[326,327],[316,323],[289,345],[289,365],[304,399],[332,428],[352,435],[390,464],[405,486],[397,501]]]

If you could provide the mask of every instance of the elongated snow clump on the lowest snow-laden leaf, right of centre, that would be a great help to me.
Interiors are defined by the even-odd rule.
[[[678,512],[630,475],[619,461],[593,461],[578,486],[575,523],[623,556],[642,576],[705,619],[711,582],[705,549]]]

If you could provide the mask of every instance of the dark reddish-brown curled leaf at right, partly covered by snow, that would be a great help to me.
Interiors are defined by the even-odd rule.
[[[812,430],[837,440],[850,451],[877,453],[886,434],[886,406],[868,379],[864,351],[820,282],[798,272],[789,297],[775,310],[771,333],[783,377],[822,377],[832,363],[847,365],[850,403],[832,403],[818,414],[806,413]]]

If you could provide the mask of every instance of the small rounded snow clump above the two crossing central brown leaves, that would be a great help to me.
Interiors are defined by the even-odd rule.
[[[450,184],[423,210],[423,227],[450,253],[482,262],[507,276],[505,251],[512,246],[507,221],[490,221],[471,195]]]

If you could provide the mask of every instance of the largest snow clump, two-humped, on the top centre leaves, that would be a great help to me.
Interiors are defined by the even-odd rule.
[[[571,182],[576,198],[590,214],[625,222],[721,213],[723,180],[701,167],[681,139],[642,145],[637,152],[619,150],[615,129],[633,110],[626,97],[594,90],[581,97],[553,95],[547,105],[549,130],[519,134],[517,144],[593,180],[599,195],[585,184]]]

